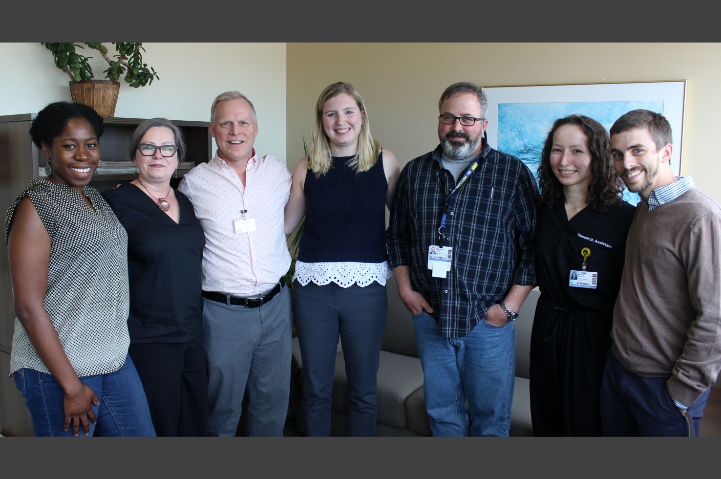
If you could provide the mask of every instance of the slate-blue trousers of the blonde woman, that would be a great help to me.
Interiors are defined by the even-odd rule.
[[[373,436],[376,377],[386,330],[386,287],[373,282],[343,288],[335,283],[294,286],[294,318],[303,359],[306,436],[329,436],[338,336],[348,378],[350,436]]]

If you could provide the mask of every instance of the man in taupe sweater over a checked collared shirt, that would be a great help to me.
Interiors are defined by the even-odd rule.
[[[699,436],[721,369],[721,208],[671,170],[671,126],[633,110],[611,127],[642,198],[626,245],[601,385],[604,436]]]

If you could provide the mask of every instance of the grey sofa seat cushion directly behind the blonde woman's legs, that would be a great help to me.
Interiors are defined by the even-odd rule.
[[[423,386],[420,359],[381,351],[378,371],[378,418],[376,421],[394,428],[407,428],[406,401]],[[348,379],[342,353],[335,359],[332,409],[348,414]],[[425,409],[424,409],[425,410]]]

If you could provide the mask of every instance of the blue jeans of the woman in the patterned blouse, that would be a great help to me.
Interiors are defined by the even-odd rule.
[[[99,405],[93,405],[97,424],[88,421],[87,437],[96,430],[99,436],[155,436],[143,384],[130,356],[118,371],[79,379],[100,400]],[[15,385],[25,397],[35,436],[73,436],[73,426],[63,431],[64,393],[52,374],[23,368],[15,373]],[[82,426],[78,437],[84,437]]]

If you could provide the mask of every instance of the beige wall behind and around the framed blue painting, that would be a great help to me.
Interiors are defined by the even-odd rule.
[[[721,203],[721,162],[709,142],[721,121],[721,43],[288,43],[288,167],[303,156],[318,95],[350,82],[373,136],[401,164],[438,144],[438,97],[449,84],[485,86],[687,80],[681,174]]]

